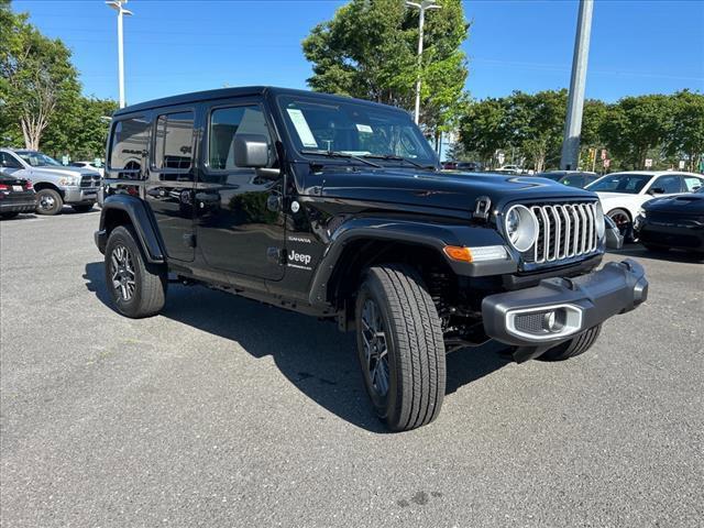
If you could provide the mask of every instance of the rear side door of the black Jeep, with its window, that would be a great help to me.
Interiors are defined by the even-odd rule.
[[[193,108],[169,109],[154,116],[152,160],[146,200],[172,260],[194,260],[194,188],[196,167]]]

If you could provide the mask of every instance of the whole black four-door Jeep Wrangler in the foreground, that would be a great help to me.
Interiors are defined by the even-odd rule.
[[[440,413],[446,354],[490,339],[516,361],[585,352],[647,297],[606,245],[596,196],[543,178],[442,173],[408,113],[251,87],[118,111],[96,243],[117,309],[148,317],[169,282],[354,330],[393,430]]]

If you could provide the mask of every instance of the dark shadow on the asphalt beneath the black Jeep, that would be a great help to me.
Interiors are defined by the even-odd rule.
[[[86,265],[86,287],[110,309],[103,263]],[[254,358],[271,355],[280,373],[310,399],[372,432],[387,430],[374,416],[359,373],[353,332],[331,322],[199,286],[169,285],[162,317],[237,342]],[[509,360],[496,344],[448,355],[447,394]]]

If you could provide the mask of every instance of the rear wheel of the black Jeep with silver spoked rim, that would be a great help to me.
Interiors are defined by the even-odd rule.
[[[106,286],[117,310],[140,319],[164,307],[168,284],[164,266],[148,264],[129,226],[112,230],[106,244]],[[114,279],[114,280],[113,280]]]

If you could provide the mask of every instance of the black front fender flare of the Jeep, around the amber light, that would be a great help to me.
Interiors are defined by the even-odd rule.
[[[328,305],[328,283],[340,263],[340,256],[351,242],[359,240],[387,240],[430,248],[442,255],[458,275],[476,277],[516,273],[518,270],[517,261],[510,252],[509,258],[498,263],[492,261],[464,263],[450,260],[442,251],[446,245],[506,245],[502,235],[491,227],[397,218],[354,218],[341,224],[330,237],[311,282],[308,300],[312,306]]]

